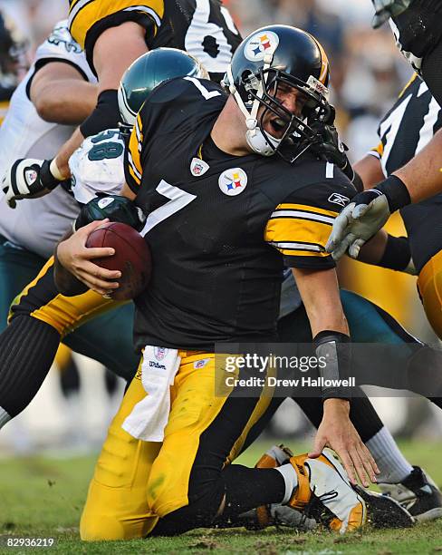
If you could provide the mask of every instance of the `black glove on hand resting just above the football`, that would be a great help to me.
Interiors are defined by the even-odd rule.
[[[82,206],[78,218],[73,224],[77,229],[86,226],[97,219],[108,218],[111,221],[125,223],[133,229],[140,231],[144,227],[146,217],[141,209],[126,197],[97,193],[97,196]]]

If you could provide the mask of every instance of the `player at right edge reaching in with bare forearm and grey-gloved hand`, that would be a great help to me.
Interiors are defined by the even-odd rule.
[[[436,101],[442,103],[442,3],[439,0],[372,0],[374,24],[389,17],[399,50],[421,74]],[[399,166],[373,189],[359,193],[333,224],[327,250],[334,258],[358,256],[361,245],[384,225],[389,215],[442,191],[442,131],[425,149]]]

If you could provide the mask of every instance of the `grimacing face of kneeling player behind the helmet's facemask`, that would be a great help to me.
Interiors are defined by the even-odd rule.
[[[261,106],[258,111],[258,121],[263,116],[264,131],[275,139],[282,139],[290,123],[290,116],[287,112],[302,119],[307,96],[286,83],[274,83],[271,90],[269,90],[269,94],[283,106],[283,109],[276,102],[272,106],[274,111]]]

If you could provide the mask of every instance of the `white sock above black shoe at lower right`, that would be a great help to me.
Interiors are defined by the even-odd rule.
[[[380,469],[378,482],[402,482],[413,470],[385,426],[375,433],[366,445]]]

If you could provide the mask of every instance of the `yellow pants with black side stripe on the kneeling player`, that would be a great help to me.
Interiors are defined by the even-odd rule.
[[[121,424],[146,395],[141,364],[109,428],[82,513],[82,540],[129,540],[153,530],[158,517],[188,504],[188,484],[201,434],[223,411],[227,396],[215,396],[215,355],[180,351],[181,364],[170,387],[171,406],[163,443],[133,438]],[[197,361],[204,360],[204,365]],[[201,366],[201,367],[196,367]],[[228,446],[230,463],[241,452],[247,433],[264,414],[271,396],[265,391],[248,421]],[[239,410],[244,405],[237,399]]]

